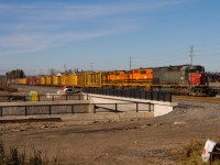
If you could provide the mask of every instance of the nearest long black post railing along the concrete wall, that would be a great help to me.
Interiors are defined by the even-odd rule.
[[[97,112],[123,112],[124,111],[154,111],[154,103],[50,103],[50,105],[8,105],[0,106],[0,117],[6,116],[34,116],[34,114],[74,114]],[[130,110],[128,110],[130,108]]]

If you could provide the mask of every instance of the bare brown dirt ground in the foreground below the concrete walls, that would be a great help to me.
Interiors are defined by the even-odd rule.
[[[220,105],[179,102],[152,119],[0,123],[6,147],[41,151],[64,165],[178,164],[170,154],[191,141],[220,139]]]

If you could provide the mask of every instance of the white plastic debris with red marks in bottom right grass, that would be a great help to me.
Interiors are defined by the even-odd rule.
[[[202,154],[201,154],[201,158],[202,158],[204,163],[209,162],[210,152],[213,151],[213,147],[215,147],[216,144],[217,143],[211,141],[211,140],[206,141],[206,144],[205,144],[205,147],[204,147],[204,151],[202,151]]]

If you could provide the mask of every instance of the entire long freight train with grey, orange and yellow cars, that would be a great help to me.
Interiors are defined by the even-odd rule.
[[[189,96],[211,95],[205,67],[200,65],[32,76],[11,79],[10,82],[36,86],[74,86],[79,88],[142,88],[145,90],[170,90],[174,94]]]

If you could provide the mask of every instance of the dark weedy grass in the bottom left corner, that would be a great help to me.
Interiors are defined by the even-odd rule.
[[[59,165],[57,158],[50,161],[43,157],[41,152],[33,152],[33,156],[30,157],[24,152],[19,152],[18,147],[10,147],[7,153],[3,143],[0,142],[0,165]]]

